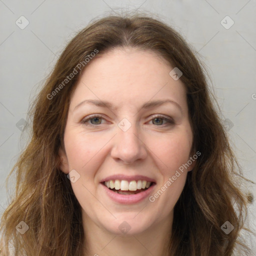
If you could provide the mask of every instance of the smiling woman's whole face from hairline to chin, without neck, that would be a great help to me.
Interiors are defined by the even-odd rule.
[[[83,71],[59,155],[85,229],[171,225],[194,164],[185,87],[172,69],[154,52],[115,48]]]

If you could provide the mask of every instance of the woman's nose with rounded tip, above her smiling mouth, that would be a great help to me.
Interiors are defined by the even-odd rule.
[[[127,131],[117,127],[117,134],[114,136],[113,143],[111,156],[125,164],[133,163],[138,159],[145,159],[147,156],[146,145],[135,125],[132,125]]]

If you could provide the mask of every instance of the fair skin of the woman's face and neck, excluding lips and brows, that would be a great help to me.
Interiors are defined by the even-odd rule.
[[[75,169],[80,175],[71,185],[82,209],[84,255],[167,255],[173,207],[195,162],[154,202],[148,198],[129,205],[114,202],[99,182],[113,174],[145,175],[156,181],[153,195],[193,155],[185,86],[172,79],[171,70],[152,51],[115,48],[94,57],[78,81],[59,156],[64,173]],[[107,100],[114,108],[89,103],[75,108],[85,99]],[[176,104],[141,109],[148,101],[162,99]],[[86,125],[83,120],[91,114],[101,119],[90,117]],[[154,119],[155,114],[174,123]],[[117,125],[122,118],[131,124],[127,131]],[[124,220],[130,226],[125,234],[118,228]]]

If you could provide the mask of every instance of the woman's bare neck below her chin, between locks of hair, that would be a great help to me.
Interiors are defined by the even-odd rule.
[[[141,233],[129,235],[110,233],[84,216],[87,245],[84,256],[168,256],[172,216],[167,216]]]

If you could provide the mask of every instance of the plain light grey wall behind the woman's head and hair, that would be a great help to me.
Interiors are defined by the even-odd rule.
[[[0,213],[29,103],[60,52],[91,19],[127,10],[149,11],[201,55],[244,176],[256,182],[256,0],[0,0]],[[246,190],[256,196],[255,184]],[[249,211],[255,227],[255,202]]]

